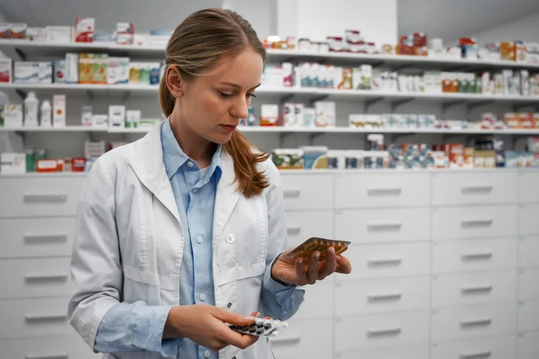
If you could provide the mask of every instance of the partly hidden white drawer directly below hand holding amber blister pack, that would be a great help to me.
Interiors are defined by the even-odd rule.
[[[301,287],[305,290],[305,302],[294,314],[294,320],[333,317],[333,278],[329,276],[316,285]]]

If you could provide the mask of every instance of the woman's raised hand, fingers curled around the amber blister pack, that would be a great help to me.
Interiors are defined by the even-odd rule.
[[[307,285],[317,283],[317,280],[323,280],[335,272],[349,274],[352,271],[350,261],[342,255],[335,255],[333,247],[328,248],[326,261],[319,263],[320,253],[316,251],[307,264],[303,263],[302,258],[288,256],[293,249],[288,248],[279,256],[272,269],[272,278],[288,284]]]

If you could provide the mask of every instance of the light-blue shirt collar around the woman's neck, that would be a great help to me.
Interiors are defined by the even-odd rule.
[[[163,126],[161,127],[163,163],[165,165],[166,175],[168,176],[168,179],[171,179],[172,176],[182,167],[182,165],[185,165],[185,163],[187,163],[187,161],[192,161],[192,159],[189,158],[189,156],[187,156],[187,154],[185,154],[185,152],[182,150],[180,144],[178,144],[178,141],[176,140],[176,137],[174,137],[170,120],[171,118],[170,116],[168,116],[166,121],[164,121]],[[206,178],[211,177],[211,175],[213,175],[213,172],[217,172],[217,179],[220,179],[222,171],[220,158],[221,150],[222,146],[221,144],[218,144],[218,147],[215,150],[215,154],[213,154],[213,157],[211,159],[210,168],[208,168],[208,171],[206,172]],[[196,165],[196,162],[192,162]]]

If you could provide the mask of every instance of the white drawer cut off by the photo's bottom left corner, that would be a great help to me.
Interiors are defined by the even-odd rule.
[[[69,337],[0,339],[2,358],[6,359],[98,359],[78,334]]]

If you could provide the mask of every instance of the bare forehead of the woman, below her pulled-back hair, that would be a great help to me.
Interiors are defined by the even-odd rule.
[[[260,83],[263,67],[262,57],[247,49],[234,57],[223,57],[215,70],[202,78],[215,83],[236,83],[248,90]]]

